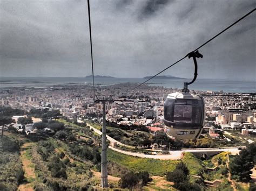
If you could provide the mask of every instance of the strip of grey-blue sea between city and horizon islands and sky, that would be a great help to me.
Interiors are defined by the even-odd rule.
[[[142,83],[143,78],[112,78],[96,77],[95,84],[109,86],[118,83]],[[162,86],[166,88],[183,89],[184,82],[190,79],[152,79],[146,84],[149,86]],[[44,88],[64,84],[92,84],[88,77],[0,77],[0,88],[8,87],[34,87]],[[135,86],[135,84],[134,84]],[[227,80],[227,79],[197,79],[188,86],[190,90],[223,91],[226,93],[256,93],[255,81]]]

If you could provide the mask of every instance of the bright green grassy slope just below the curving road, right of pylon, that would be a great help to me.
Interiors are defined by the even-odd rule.
[[[168,171],[172,171],[179,162],[177,160],[158,160],[132,157],[110,149],[107,150],[107,159],[125,166],[131,171],[147,171],[152,175],[161,176],[165,175]]]

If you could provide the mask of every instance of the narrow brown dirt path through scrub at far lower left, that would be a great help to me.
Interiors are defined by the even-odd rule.
[[[19,185],[18,190],[19,191],[32,191],[33,186],[32,182],[36,178],[35,175],[35,168],[33,167],[33,163],[31,162],[29,153],[28,153],[28,148],[32,145],[33,143],[25,143],[21,147],[21,160],[22,160],[22,167],[25,172],[24,176],[26,179],[26,182],[23,182],[21,185]]]

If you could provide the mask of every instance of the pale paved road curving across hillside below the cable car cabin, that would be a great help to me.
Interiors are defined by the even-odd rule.
[[[90,126],[90,129],[93,129],[98,135],[102,135],[102,132],[99,131],[96,128],[93,128],[93,126]],[[110,136],[106,136],[107,140],[109,140],[112,143],[116,143],[117,145],[121,146],[126,146],[130,148],[134,148],[133,146],[125,145],[123,143],[118,142],[117,140],[113,139]],[[131,155],[134,157],[141,157],[141,158],[151,158],[151,159],[160,159],[160,160],[178,160],[181,159],[182,153],[183,152],[192,152],[192,153],[197,153],[197,152],[231,152],[231,154],[238,154],[240,150],[238,150],[239,147],[228,147],[228,148],[196,148],[196,149],[184,149],[184,150],[179,150],[179,151],[170,151],[170,154],[163,154],[163,155],[152,155],[152,154],[143,154],[143,153],[137,153],[137,152],[130,152],[130,151],[124,151],[116,147],[109,146],[109,148],[113,151],[117,151],[119,153]]]

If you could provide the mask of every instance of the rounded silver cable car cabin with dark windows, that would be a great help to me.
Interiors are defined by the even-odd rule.
[[[190,93],[169,94],[164,104],[167,134],[177,139],[198,138],[205,121],[204,98]]]

